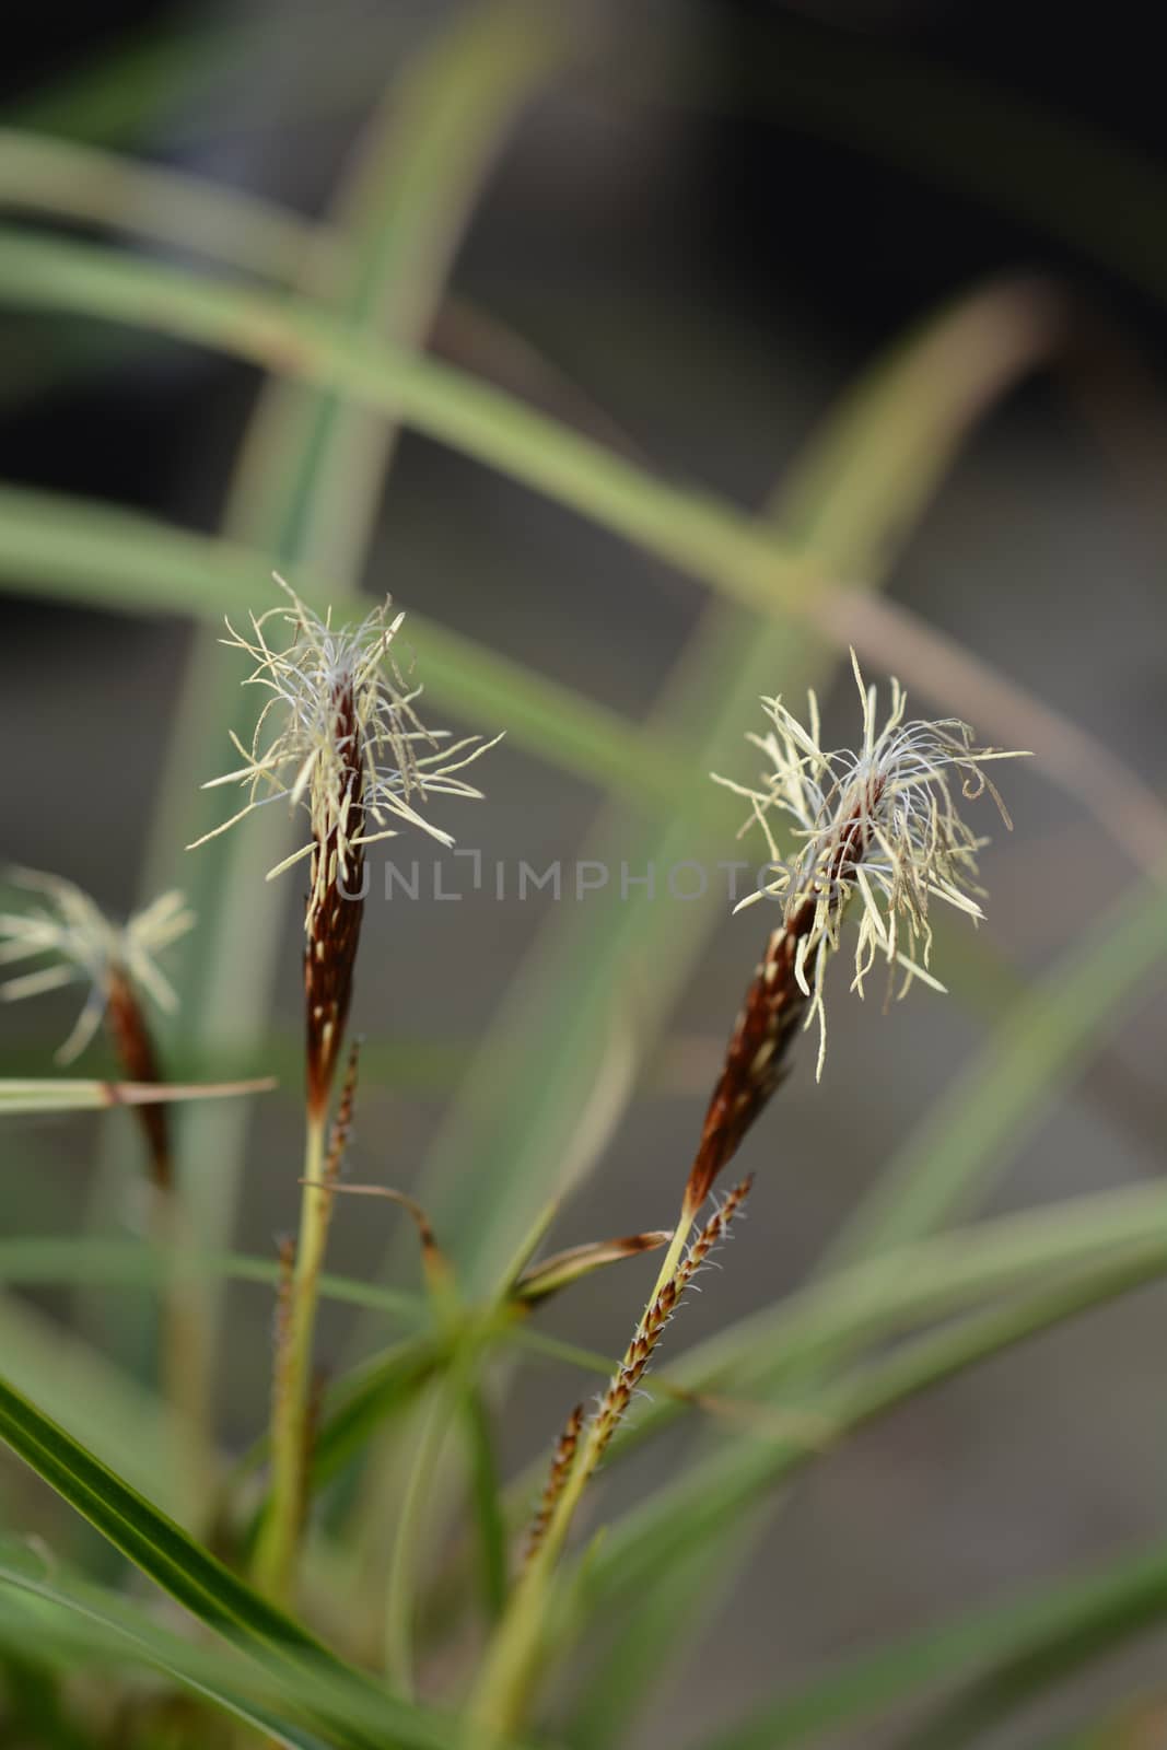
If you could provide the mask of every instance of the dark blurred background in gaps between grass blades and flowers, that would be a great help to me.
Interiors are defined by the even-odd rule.
[[[432,0],[107,4],[65,30],[59,9],[45,7],[24,12],[0,91],[14,124],[37,122],[44,102],[51,131],[42,94],[129,38],[149,47],[189,33],[192,66],[203,65],[198,44],[236,44],[178,82],[122,144],[311,215],[394,68],[450,10]],[[1108,357],[1122,371],[1066,373],[1015,394],[929,509],[892,595],[1160,784],[1167,415],[1155,287],[1167,287],[1167,231],[1162,208],[1151,222],[1151,194],[1167,187],[1167,121],[1153,10],[660,0],[597,7],[591,23],[595,52],[525,112],[490,175],[458,250],[457,290],[576,385],[576,399],[555,408],[562,416],[598,430],[602,410],[618,441],[665,472],[754,508],[833,397],[915,320],[1004,270],[1052,275],[1113,341]],[[1083,156],[1083,144],[1097,152]],[[0,474],[180,525],[219,523],[254,371],[86,324],[65,340],[59,320],[23,313],[2,313],[0,336]],[[469,369],[490,364],[472,350],[451,355]],[[703,598],[567,511],[409,434],[367,588],[392,588],[402,606],[630,718],[646,714]],[[3,854],[126,910],[191,634],[40,602],[31,588],[9,595],[2,612]],[[782,686],[775,676],[773,690]],[[849,681],[828,700],[828,724],[829,740],[852,733]],[[226,746],[208,749],[206,775],[227,758]],[[745,749],[742,760],[738,777],[752,772]],[[535,863],[576,854],[597,808],[588,784],[507,747],[483,780],[490,802],[458,824],[464,844]],[[997,831],[985,859],[989,940],[1034,971],[1090,929],[1132,870],[1039,772],[1010,770],[1003,788],[1017,831],[1008,842]],[[726,821],[731,831],[733,808]],[[170,878],[184,878],[180,856]],[[290,1036],[292,889],[282,903],[276,1024]],[[357,1020],[401,1045],[413,1068],[392,1092],[369,1094],[353,1171],[383,1171],[374,1139],[392,1118],[404,1183],[541,908],[486,896],[420,906],[404,936],[387,914],[369,917]],[[661,1060],[563,1218],[563,1242],[667,1220],[752,948],[749,928],[726,917]],[[376,954],[383,976],[367,970]],[[453,1013],[432,976],[446,957],[469,968]],[[959,992],[941,1001],[917,990],[880,1017],[878,1001],[861,1008],[843,984],[822,1087],[805,1052],[782,1094],[780,1146],[775,1130],[751,1141],[763,1180],[733,1269],[686,1312],[677,1346],[796,1281],[976,1050],[982,1020]],[[68,1001],[0,1015],[14,1060],[47,1069],[70,1015]],[[1162,1020],[1160,998],[1113,1029],[1010,1158],[994,1209],[1160,1171]],[[266,1111],[259,1130],[255,1158],[292,1152],[294,1101]],[[26,1208],[19,1188],[9,1194],[10,1225],[58,1230],[77,1188],[100,1178],[93,1125],[30,1125],[21,1144],[37,1186]],[[124,1209],[108,1188],[101,1195],[98,1218],[117,1225]],[[266,1253],[290,1220],[280,1174],[248,1174],[240,1242]],[[338,1222],[338,1269],[362,1272],[378,1256],[367,1223]],[[584,1286],[556,1309],[555,1328],[614,1349],[635,1293],[632,1274]],[[77,1314],[61,1295],[35,1298],[52,1316]],[[1162,1514],[1165,1306],[1160,1290],[1127,1298],[814,1466],[768,1530],[747,1586],[714,1615],[700,1685],[674,1689],[639,1741],[672,1743],[679,1722],[712,1722],[782,1675],[1150,1535]],[[115,1309],[93,1316],[124,1342]],[[233,1316],[222,1410],[241,1440],[264,1390],[268,1307],[240,1295]],[[339,1353],[345,1330],[345,1320],[327,1321],[325,1346]],[[570,1390],[553,1372],[523,1384],[511,1463],[546,1442]],[[614,1480],[612,1498],[630,1486]],[[1160,1638],[1127,1654],[1125,1670],[1092,1673],[992,1741],[1038,1743],[1046,1724],[1069,1724],[1125,1680],[1150,1678],[1165,1647]]]

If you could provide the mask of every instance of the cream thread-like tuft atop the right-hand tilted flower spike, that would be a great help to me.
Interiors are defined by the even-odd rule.
[[[810,928],[800,936],[794,975],[810,998],[807,1026],[819,1018],[819,1073],[826,1052],[822,978],[850,901],[857,898],[861,903],[852,990],[863,996],[863,980],[877,957],[903,968],[898,996],[908,990],[913,978],[943,990],[927,970],[933,945],[929,903],[943,900],[975,922],[983,917],[976,852],[987,844],[961,819],[952,780],[959,779],[961,796],[969,802],[987,789],[1011,828],[1004,803],[982,768],[989,760],[1022,758],[1020,752],[976,747],[973,730],[959,718],[905,723],[908,700],[894,679],[891,710],[877,730],[877,690],[864,684],[854,651],[850,660],[863,707],[863,746],[857,752],[824,752],[814,691],[808,693],[807,724],[780,698],[765,698],[772,728],[766,735],[747,737],[770,763],[763,775],[765,789],[717,777],[719,784],[749,798],[752,812],[742,831],[752,824],[763,828],[775,870],[775,878],[742,900],[737,910],[779,898],[789,926],[796,912],[814,906]],[[770,830],[770,810],[793,822],[796,849],[786,859]]]

